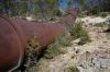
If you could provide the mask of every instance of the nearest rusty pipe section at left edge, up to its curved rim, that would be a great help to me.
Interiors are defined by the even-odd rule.
[[[0,16],[0,72],[20,67],[18,60],[24,56],[23,37],[19,26]]]

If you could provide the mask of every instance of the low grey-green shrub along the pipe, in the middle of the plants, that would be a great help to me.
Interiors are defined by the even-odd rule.
[[[44,58],[52,59],[55,56],[58,56],[61,53],[65,53],[65,46],[70,45],[70,37],[67,34],[64,34],[63,36],[59,36],[56,38],[54,44],[51,44],[46,51],[44,52]]]

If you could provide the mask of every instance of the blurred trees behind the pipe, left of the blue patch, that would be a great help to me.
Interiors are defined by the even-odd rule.
[[[47,19],[57,15],[59,9],[57,0],[2,0],[0,13],[22,17],[33,14],[38,19]]]

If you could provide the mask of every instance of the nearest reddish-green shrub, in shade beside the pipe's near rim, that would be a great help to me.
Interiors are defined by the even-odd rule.
[[[35,67],[37,63],[37,56],[38,56],[38,49],[40,46],[36,43],[36,36],[34,37],[29,37],[28,40],[28,46],[26,46],[26,52],[25,52],[25,59],[24,59],[24,64],[18,72],[34,72]]]

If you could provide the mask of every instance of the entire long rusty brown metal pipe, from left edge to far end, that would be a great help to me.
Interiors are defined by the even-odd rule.
[[[20,57],[24,56],[23,46],[28,43],[29,36],[37,36],[36,43],[42,49],[73,25],[77,15],[78,10],[70,10],[69,15],[57,23],[35,23],[22,19],[0,17],[0,69],[6,70],[10,65],[10,68],[16,65]]]

